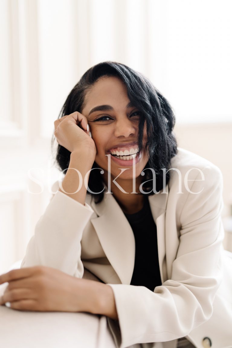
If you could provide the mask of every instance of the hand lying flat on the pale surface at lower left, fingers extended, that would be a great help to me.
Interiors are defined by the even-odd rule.
[[[90,312],[93,280],[79,279],[55,268],[36,266],[14,269],[0,276],[8,282],[0,304],[27,311]],[[90,298],[89,298],[90,297]]]

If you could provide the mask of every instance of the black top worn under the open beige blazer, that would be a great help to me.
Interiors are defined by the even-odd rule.
[[[152,217],[149,200],[135,214],[125,214],[135,236],[135,266],[130,285],[142,285],[154,291],[161,285],[157,228]]]

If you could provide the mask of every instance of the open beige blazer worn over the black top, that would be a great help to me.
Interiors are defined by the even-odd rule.
[[[41,264],[75,277],[83,277],[85,268],[110,284],[119,321],[107,321],[120,348],[135,343],[175,348],[183,336],[197,348],[231,348],[232,259],[222,248],[222,175],[216,166],[183,149],[178,149],[171,167],[166,189],[149,196],[162,280],[154,292],[129,285],[135,240],[114,197],[105,194],[95,204],[87,196],[83,206],[56,192],[58,182],[22,267]]]

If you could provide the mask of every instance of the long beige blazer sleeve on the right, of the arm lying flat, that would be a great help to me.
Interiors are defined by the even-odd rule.
[[[213,313],[222,279],[222,175],[215,166],[204,168],[203,174],[205,181],[196,177],[191,191],[203,190],[186,194],[182,205],[179,247],[170,279],[154,292],[144,286],[109,284],[119,321],[108,318],[108,323],[117,347],[184,337]]]

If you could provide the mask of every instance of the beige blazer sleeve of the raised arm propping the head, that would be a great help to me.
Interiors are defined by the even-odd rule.
[[[93,210],[57,191],[35,226],[22,267],[48,266],[81,278],[81,238]]]

